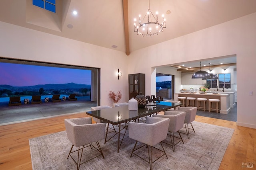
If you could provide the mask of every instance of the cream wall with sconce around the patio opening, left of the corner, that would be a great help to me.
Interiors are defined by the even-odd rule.
[[[125,53],[0,22],[0,57],[101,68],[101,105],[112,106],[110,90],[121,90],[128,102]],[[117,70],[123,76],[118,80]]]

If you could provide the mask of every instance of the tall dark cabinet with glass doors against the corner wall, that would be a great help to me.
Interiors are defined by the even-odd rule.
[[[139,92],[145,96],[145,74],[129,74],[129,100],[135,98]]]

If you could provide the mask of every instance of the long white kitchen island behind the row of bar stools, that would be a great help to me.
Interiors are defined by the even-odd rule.
[[[196,107],[197,107],[197,98],[206,98],[206,110],[209,110],[209,99],[219,99],[220,100],[220,113],[222,114],[228,114],[230,112],[230,94],[228,93],[189,93],[189,92],[180,92],[180,93],[174,93],[174,100],[178,100],[178,97],[192,97],[196,98]]]

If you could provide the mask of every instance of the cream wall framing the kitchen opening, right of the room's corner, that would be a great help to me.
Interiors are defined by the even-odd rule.
[[[215,25],[176,39],[134,51],[129,73],[146,74],[146,94],[154,94],[152,68],[227,55],[237,59],[237,125],[256,128],[256,13]],[[170,25],[171,27],[171,25]],[[133,65],[138,60],[140,66]],[[146,63],[144,62],[146,61]],[[153,76],[152,76],[153,79]],[[249,96],[249,91],[254,91]]]

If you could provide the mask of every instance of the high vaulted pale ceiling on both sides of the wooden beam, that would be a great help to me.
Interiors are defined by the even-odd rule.
[[[131,53],[256,12],[256,0],[150,0],[151,11],[165,15],[166,28],[158,35],[142,37],[134,33],[133,23],[139,14],[146,14],[148,0],[128,0],[126,44],[122,0],[56,0],[56,6],[54,14],[33,6],[32,0],[1,0],[0,21],[110,49],[116,45],[115,50],[124,53],[129,47]],[[77,16],[73,10],[77,10]],[[171,13],[166,14],[167,10]]]

